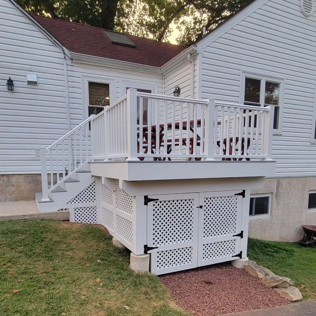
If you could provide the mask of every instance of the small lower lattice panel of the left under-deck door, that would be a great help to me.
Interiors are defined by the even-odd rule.
[[[157,270],[193,262],[193,247],[157,252]]]

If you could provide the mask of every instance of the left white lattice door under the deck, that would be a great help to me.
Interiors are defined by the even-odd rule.
[[[150,196],[147,246],[150,271],[164,274],[197,267],[198,193]],[[149,248],[150,249],[150,248]]]

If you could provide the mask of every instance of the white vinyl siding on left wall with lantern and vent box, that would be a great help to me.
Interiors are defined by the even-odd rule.
[[[0,173],[38,173],[35,150],[67,132],[63,54],[6,0],[0,20]],[[37,74],[37,86],[27,85],[27,73]]]

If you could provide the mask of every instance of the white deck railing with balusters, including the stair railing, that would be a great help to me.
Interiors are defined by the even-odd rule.
[[[91,159],[270,159],[273,118],[274,106],[129,89],[105,111],[92,115],[47,148],[40,148],[43,201]]]

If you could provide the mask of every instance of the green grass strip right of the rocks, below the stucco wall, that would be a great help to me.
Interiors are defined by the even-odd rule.
[[[316,247],[299,243],[249,239],[248,257],[279,276],[295,282],[303,299],[316,299]],[[315,295],[313,295],[313,293]]]

